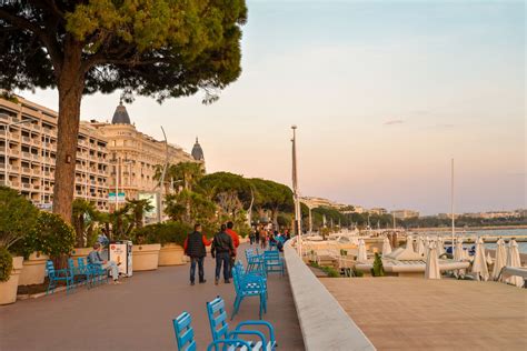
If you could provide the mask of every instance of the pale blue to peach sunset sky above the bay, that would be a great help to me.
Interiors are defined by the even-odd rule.
[[[524,1],[253,1],[242,73],[202,94],[127,106],[142,132],[207,171],[290,184],[297,124],[301,195],[366,208],[526,208]],[[52,90],[21,92],[49,108]],[[119,92],[88,96],[81,119],[111,120]]]

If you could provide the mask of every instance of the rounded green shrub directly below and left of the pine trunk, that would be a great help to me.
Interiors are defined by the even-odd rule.
[[[34,251],[60,258],[73,250],[76,234],[73,227],[66,223],[60,215],[41,211],[37,227],[28,235],[28,240],[33,240],[31,245]]]

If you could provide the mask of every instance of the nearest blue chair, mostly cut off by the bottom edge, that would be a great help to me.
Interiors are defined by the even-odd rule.
[[[173,332],[179,351],[196,351],[197,344],[193,339],[193,328],[190,325],[192,318],[188,312],[183,312],[172,320]],[[222,348],[219,348],[222,345]],[[223,339],[212,341],[207,350],[251,350],[247,341],[240,339]]]

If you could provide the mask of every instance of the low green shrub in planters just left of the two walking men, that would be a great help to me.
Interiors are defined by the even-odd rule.
[[[189,224],[168,221],[136,229],[132,233],[132,241],[136,244],[173,242],[183,245],[185,239],[191,231],[192,227]]]

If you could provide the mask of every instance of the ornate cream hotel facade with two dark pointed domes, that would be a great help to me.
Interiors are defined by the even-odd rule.
[[[111,193],[121,193],[127,199],[138,199],[141,194],[158,191],[159,181],[156,170],[159,166],[179,162],[200,162],[205,164],[203,152],[198,140],[192,154],[173,144],[166,144],[152,137],[141,133],[130,121],[126,107],[120,103],[111,123],[84,122],[95,128],[108,141],[109,187]],[[83,123],[83,124],[84,124]],[[110,208],[118,205],[110,201]]]

